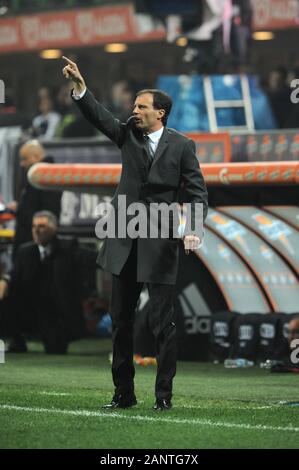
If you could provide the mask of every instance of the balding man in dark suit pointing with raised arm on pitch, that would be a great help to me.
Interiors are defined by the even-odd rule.
[[[171,98],[160,90],[137,93],[133,117],[121,123],[99,104],[86,88],[77,65],[64,58],[66,78],[73,82],[73,98],[84,116],[115,142],[122,151],[121,180],[112,200],[115,213],[121,197],[126,209],[141,203],[148,212],[151,203],[171,205],[179,200],[181,184],[185,202],[207,214],[207,190],[190,139],[166,128]],[[126,219],[128,228],[128,221]],[[148,222],[146,220],[145,222]],[[117,227],[123,229],[123,227]],[[127,408],[137,403],[134,393],[133,324],[136,304],[144,283],[150,296],[151,328],[156,340],[157,377],[155,410],[171,408],[172,383],[176,372],[176,328],[174,289],[178,268],[178,238],[108,237],[98,256],[98,264],[112,273],[110,313],[113,322],[112,376],[115,393],[106,408]],[[198,247],[198,233],[185,232],[185,249]]]

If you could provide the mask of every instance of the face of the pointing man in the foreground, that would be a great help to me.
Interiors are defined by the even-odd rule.
[[[155,109],[153,107],[153,95],[151,93],[142,93],[136,97],[133,116],[135,126],[138,129],[147,133],[159,130],[163,125],[161,118],[164,114],[164,109]]]

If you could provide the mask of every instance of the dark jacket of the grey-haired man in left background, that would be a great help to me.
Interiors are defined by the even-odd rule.
[[[9,288],[14,321],[21,323],[15,326],[22,332],[47,334],[54,322],[67,340],[82,337],[84,277],[87,270],[95,273],[95,267],[96,253],[79,247],[76,240],[55,238],[44,262],[34,242],[21,245]]]

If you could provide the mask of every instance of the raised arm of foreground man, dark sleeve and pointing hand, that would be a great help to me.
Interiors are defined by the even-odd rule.
[[[62,73],[73,84],[72,97],[75,103],[91,124],[121,147],[125,134],[125,124],[122,124],[95,99],[87,89],[77,64],[65,56],[63,56],[63,59],[66,61],[66,65]]]

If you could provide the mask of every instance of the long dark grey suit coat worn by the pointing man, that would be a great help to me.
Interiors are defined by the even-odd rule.
[[[174,129],[164,128],[150,171],[142,133],[133,120],[121,123],[99,104],[89,90],[76,100],[84,116],[107,135],[122,152],[122,174],[112,200],[126,195],[127,205],[134,202],[171,204],[179,201],[181,185],[184,202],[199,202],[207,215],[207,190],[195,155],[194,142]],[[137,280],[139,282],[175,284],[178,268],[176,238],[137,239]],[[107,238],[98,255],[98,264],[119,274],[132,246],[130,238]]]

